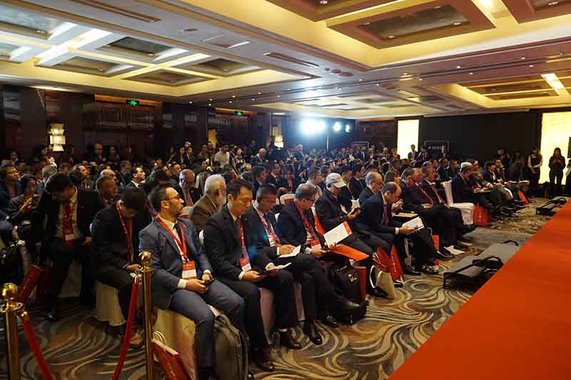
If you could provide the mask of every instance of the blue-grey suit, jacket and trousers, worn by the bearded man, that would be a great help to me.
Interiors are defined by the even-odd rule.
[[[190,220],[178,219],[176,222],[182,228],[186,240],[188,259],[194,261],[197,277],[201,279],[205,270],[212,271],[204,247],[198,240],[198,234]],[[183,271],[181,254],[171,234],[156,219],[140,232],[139,250],[151,252],[152,255],[150,266],[153,269],[153,304],[193,320],[196,324],[198,367],[214,368],[214,314],[208,304],[220,309],[236,328],[244,331],[244,300],[218,280],[203,294],[178,289]]]

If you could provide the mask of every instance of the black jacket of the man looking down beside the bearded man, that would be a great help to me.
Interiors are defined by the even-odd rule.
[[[133,261],[138,263],[138,233],[143,227],[141,217],[133,218]],[[125,220],[128,228],[128,220]],[[115,205],[109,205],[95,215],[91,226],[91,267],[94,273],[108,266],[123,268],[128,262],[127,239]]]

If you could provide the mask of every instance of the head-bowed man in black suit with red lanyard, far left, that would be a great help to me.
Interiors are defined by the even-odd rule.
[[[81,298],[88,303],[93,301],[93,278],[88,265],[89,226],[103,205],[95,192],[76,188],[66,174],[52,175],[45,190],[31,222],[34,230],[41,233],[41,256],[52,262],[46,289],[46,318],[53,322],[59,319],[58,294],[74,260],[81,262]]]

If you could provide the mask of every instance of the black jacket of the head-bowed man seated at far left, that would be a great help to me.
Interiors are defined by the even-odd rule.
[[[77,227],[81,236],[79,242],[91,236],[89,225],[93,222],[95,215],[103,208],[96,192],[90,190],[77,189]],[[52,240],[56,235],[56,225],[58,223],[59,209],[61,203],[56,202],[51,195],[44,192],[40,197],[40,202],[34,214],[31,216],[31,222],[34,231],[41,235],[42,249],[45,249],[47,242]],[[47,224],[44,230],[44,219],[47,217]]]

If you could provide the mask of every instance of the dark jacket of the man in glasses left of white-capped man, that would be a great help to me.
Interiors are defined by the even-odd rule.
[[[318,237],[323,247],[325,245],[325,238],[315,228],[313,212],[311,210],[305,210],[303,213],[311,227],[313,227],[315,236]],[[278,216],[278,228],[276,232],[283,244],[290,244],[294,247],[305,245],[305,240],[307,240],[307,230],[305,230],[305,225],[299,215],[298,208],[295,207],[295,202],[289,202],[283,207],[283,210],[281,210],[280,215]]]

